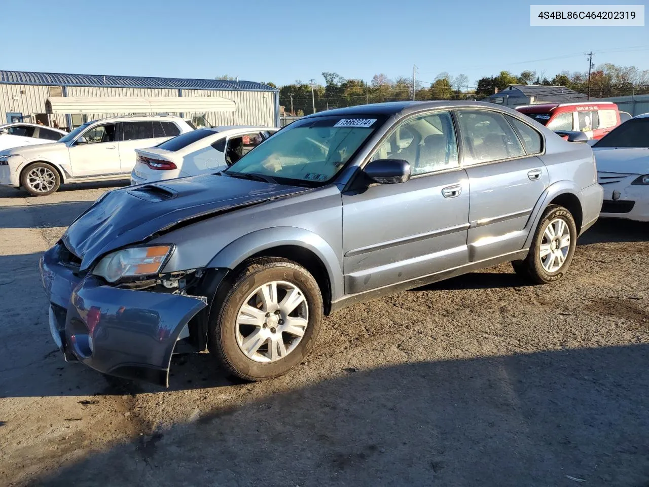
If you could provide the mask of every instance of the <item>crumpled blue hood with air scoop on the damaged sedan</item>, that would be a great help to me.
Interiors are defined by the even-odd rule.
[[[84,270],[97,257],[181,221],[308,190],[212,174],[128,186],[106,192],[73,221],[62,240],[81,258]]]

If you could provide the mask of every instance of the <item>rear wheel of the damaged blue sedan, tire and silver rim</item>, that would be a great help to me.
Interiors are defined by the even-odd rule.
[[[565,229],[560,227],[557,221],[563,222]],[[550,227],[550,223],[552,227],[548,234],[546,229]],[[557,230],[561,230],[562,236],[557,235]],[[550,238],[551,234],[555,237]],[[565,236],[569,236],[567,244]],[[534,232],[528,256],[511,264],[518,275],[537,284],[558,281],[570,268],[576,245],[577,225],[572,214],[563,206],[550,205],[543,212],[539,226]],[[546,254],[545,257],[541,257],[541,251]]]

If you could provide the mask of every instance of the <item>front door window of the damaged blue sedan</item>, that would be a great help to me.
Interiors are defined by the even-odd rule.
[[[449,112],[410,119],[376,149],[371,160],[403,159],[413,175],[459,166],[458,142]]]

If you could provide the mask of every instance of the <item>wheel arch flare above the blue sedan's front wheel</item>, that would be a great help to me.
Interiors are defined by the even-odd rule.
[[[234,269],[250,256],[282,245],[296,245],[312,251],[326,268],[332,301],[343,295],[343,269],[339,256],[321,236],[297,227],[271,227],[241,236],[223,247],[207,267]]]

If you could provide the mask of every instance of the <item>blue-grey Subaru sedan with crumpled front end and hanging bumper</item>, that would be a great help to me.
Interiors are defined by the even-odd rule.
[[[508,261],[557,281],[601,205],[591,147],[509,108],[328,110],[220,173],[104,194],[40,261],[50,329],[112,375],[166,385],[191,347],[268,379],[352,303]]]

